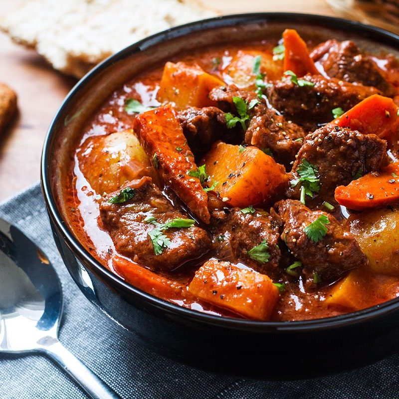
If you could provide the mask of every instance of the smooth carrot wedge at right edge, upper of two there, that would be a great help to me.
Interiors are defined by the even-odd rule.
[[[392,98],[373,94],[328,125],[348,127],[363,134],[374,133],[393,143],[398,140],[398,109]]]

